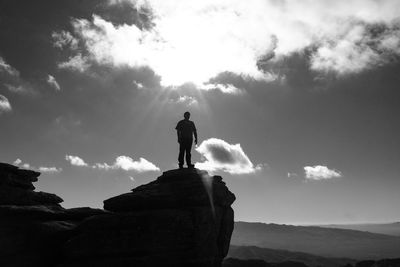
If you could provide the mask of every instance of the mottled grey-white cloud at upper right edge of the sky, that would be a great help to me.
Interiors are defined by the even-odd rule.
[[[400,26],[400,25],[399,25]],[[400,30],[353,23],[337,39],[324,40],[311,57],[311,69],[339,75],[383,65],[400,55]]]

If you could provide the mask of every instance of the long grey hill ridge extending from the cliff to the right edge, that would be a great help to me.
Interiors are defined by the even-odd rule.
[[[231,245],[357,260],[400,257],[400,237],[317,226],[236,222]]]

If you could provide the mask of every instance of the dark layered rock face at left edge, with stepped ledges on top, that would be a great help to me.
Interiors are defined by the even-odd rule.
[[[62,208],[57,195],[34,191],[39,175],[0,163],[0,266],[55,266],[77,223],[105,213]]]

